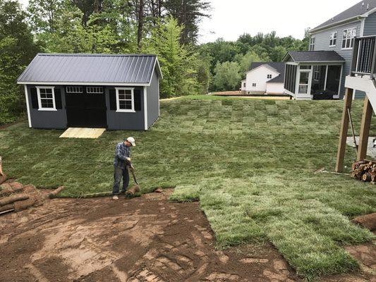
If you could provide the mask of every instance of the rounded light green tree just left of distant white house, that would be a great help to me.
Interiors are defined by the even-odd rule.
[[[241,76],[236,62],[217,63],[213,84],[217,91],[236,90],[240,85]]]

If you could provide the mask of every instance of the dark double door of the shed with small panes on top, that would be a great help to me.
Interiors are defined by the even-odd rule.
[[[68,127],[107,128],[106,111],[104,87],[66,87]]]

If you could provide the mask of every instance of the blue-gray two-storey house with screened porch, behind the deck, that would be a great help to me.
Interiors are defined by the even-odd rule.
[[[342,99],[355,38],[376,35],[375,12],[376,0],[360,1],[310,30],[309,51],[289,52],[284,58],[286,92],[296,99]],[[354,97],[364,95],[356,91]]]

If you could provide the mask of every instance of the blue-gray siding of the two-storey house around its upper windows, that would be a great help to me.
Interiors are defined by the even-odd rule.
[[[342,37],[344,35],[344,30],[351,27],[357,27],[357,36],[360,36],[360,20],[354,23],[349,23],[347,25],[341,25],[338,27],[332,27],[329,30],[324,30],[322,32],[317,32],[311,35],[315,38],[315,51],[336,51],[339,55],[344,57],[346,62],[344,63],[344,69],[342,72],[341,78],[341,90],[340,90],[340,99],[344,97],[344,85],[346,75],[350,73],[351,61],[353,56],[353,50],[344,50],[342,49]],[[332,32],[337,32],[336,47],[329,47],[329,37]]]

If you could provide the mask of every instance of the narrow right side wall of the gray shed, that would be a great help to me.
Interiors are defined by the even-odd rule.
[[[154,70],[152,82],[147,87],[147,127],[157,121],[159,116],[159,78]]]

